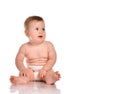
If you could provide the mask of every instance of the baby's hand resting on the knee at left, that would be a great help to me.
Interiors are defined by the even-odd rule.
[[[27,77],[29,79],[33,79],[34,74],[33,74],[33,71],[31,69],[25,68],[25,69],[20,71],[19,76]]]

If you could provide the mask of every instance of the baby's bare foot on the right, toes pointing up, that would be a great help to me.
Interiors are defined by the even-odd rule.
[[[58,81],[60,79],[60,74],[57,72],[54,72],[48,76],[46,76],[46,84],[48,85],[52,85],[54,84],[56,81]]]

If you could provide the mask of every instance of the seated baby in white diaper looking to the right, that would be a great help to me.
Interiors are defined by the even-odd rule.
[[[48,85],[60,79],[60,74],[53,71],[56,51],[53,44],[45,41],[45,23],[42,17],[30,16],[25,22],[25,34],[29,42],[24,43],[16,55],[16,67],[19,76],[11,76],[12,84],[26,84],[30,81],[43,81]],[[27,67],[24,65],[26,59]]]

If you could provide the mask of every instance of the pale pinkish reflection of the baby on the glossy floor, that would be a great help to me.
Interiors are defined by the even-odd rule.
[[[12,85],[10,92],[18,94],[60,94],[55,85],[46,85],[43,82],[30,82],[26,85]]]

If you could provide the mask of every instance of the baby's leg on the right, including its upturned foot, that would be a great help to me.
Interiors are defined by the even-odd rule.
[[[44,80],[48,85],[54,84],[59,79],[60,79],[60,74],[54,71],[48,71],[46,76],[44,77]]]

